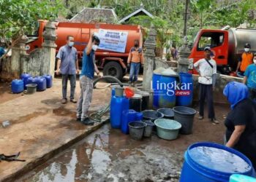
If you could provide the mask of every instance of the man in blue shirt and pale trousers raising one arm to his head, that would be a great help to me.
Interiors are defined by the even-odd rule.
[[[88,111],[91,104],[92,91],[94,87],[94,71],[96,71],[97,76],[101,77],[99,70],[94,63],[95,51],[99,46],[99,42],[99,38],[94,36],[92,33],[89,43],[86,49],[83,51],[83,66],[80,74],[81,92],[77,108],[77,120],[83,124],[94,124],[94,122],[89,119]]]

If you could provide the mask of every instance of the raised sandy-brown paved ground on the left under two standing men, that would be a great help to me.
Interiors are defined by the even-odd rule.
[[[10,90],[7,86],[1,83],[5,91]],[[110,89],[94,91],[91,111],[108,105],[110,101]],[[59,79],[53,82],[52,88],[34,95],[0,92],[0,123],[11,122],[9,127],[0,127],[0,154],[20,151],[20,159],[26,159],[26,162],[0,162],[0,181],[34,168],[100,127],[99,123],[86,127],[76,122],[76,104],[63,105],[60,98]]]

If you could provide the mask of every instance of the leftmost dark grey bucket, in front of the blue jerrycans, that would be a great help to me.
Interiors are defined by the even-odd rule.
[[[146,124],[143,122],[129,122],[129,135],[132,139],[139,141],[143,138]]]

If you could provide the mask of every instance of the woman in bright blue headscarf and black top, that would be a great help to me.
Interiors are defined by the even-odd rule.
[[[225,120],[226,146],[241,151],[256,167],[256,105],[245,84],[230,82],[223,94],[231,105]]]

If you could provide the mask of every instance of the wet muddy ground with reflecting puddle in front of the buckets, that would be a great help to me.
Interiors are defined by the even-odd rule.
[[[178,181],[183,152],[159,141],[157,136],[134,141],[105,124],[21,181]]]

